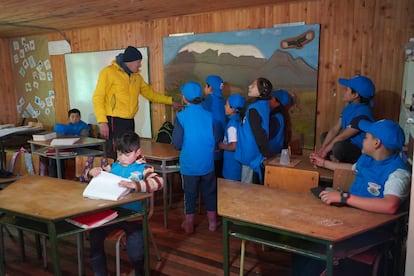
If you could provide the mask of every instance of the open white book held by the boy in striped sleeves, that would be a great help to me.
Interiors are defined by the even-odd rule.
[[[92,178],[83,191],[83,196],[92,199],[119,200],[129,193],[129,189],[118,185],[121,180],[131,181],[118,175],[102,171]]]

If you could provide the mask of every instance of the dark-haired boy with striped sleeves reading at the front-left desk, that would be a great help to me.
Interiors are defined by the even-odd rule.
[[[134,182],[121,181],[119,185],[122,187],[130,188],[136,192],[160,190],[163,188],[163,179],[141,157],[139,139],[138,134],[132,131],[125,132],[117,139],[117,161],[112,164],[110,172],[134,180]],[[87,174],[95,177],[101,171],[102,168],[95,167]],[[141,202],[128,203],[121,207],[141,211]],[[144,275],[144,239],[142,236],[142,226],[136,221],[122,221],[94,228],[90,231],[90,261],[95,275],[108,275],[104,241],[109,233],[115,229],[123,229],[127,235],[126,248],[129,259],[134,264],[135,275]]]

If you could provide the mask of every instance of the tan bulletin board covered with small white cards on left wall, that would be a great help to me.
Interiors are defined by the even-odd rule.
[[[19,37],[10,43],[18,116],[54,125],[55,92],[47,37]]]

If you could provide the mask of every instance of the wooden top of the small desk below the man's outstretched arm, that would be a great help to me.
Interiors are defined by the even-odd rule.
[[[151,140],[141,140],[141,151],[145,158],[155,160],[174,160],[180,157],[180,152],[172,144],[157,143]]]

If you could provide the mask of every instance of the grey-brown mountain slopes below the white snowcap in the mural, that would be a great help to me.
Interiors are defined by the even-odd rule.
[[[295,59],[280,50],[275,51],[267,60],[257,52],[255,56],[247,56],[240,55],[240,51],[236,50],[225,52],[223,49],[206,48],[200,52],[199,48],[196,51],[186,46],[164,70],[166,90],[170,93],[190,80],[204,84],[205,77],[210,74],[221,76],[231,85],[232,93],[245,93],[248,85],[257,77],[268,78],[275,88],[295,92],[316,91],[317,70],[302,58]]]

